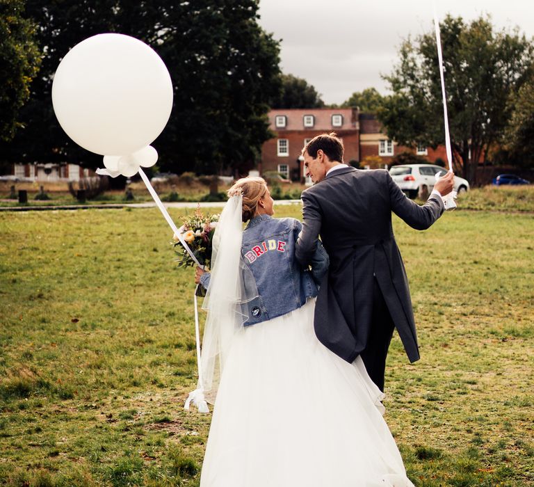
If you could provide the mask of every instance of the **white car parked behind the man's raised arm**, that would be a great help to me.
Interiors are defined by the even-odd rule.
[[[446,173],[446,168],[433,164],[405,164],[394,166],[389,170],[391,179],[398,184],[408,198],[415,198],[419,191],[432,191],[437,173]],[[469,182],[463,177],[454,177],[454,190],[460,193],[469,190]]]

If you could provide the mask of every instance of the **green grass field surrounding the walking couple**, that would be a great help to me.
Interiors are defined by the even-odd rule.
[[[410,478],[534,486],[533,216],[394,225],[422,358],[394,337],[385,405]],[[2,213],[0,235],[0,484],[197,486],[193,271],[159,212]]]

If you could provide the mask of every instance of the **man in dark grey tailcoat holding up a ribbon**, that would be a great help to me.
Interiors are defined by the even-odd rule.
[[[315,332],[328,349],[367,372],[384,390],[387,350],[394,328],[410,362],[419,360],[410,289],[391,211],[416,230],[426,230],[444,211],[442,196],[454,175],[439,179],[423,205],[408,199],[387,170],[357,170],[343,163],[336,134],[312,138],[302,150],[315,183],[302,193],[302,232],[296,258],[307,266],[321,235],[330,256],[315,309]]]

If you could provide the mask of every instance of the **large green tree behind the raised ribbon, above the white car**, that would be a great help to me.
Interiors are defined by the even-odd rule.
[[[471,183],[481,158],[499,142],[510,118],[510,95],[532,70],[533,47],[517,29],[495,32],[489,17],[466,24],[450,15],[440,25],[453,165]],[[442,91],[434,32],[401,45],[385,77],[393,95],[378,118],[403,145],[444,144]]]

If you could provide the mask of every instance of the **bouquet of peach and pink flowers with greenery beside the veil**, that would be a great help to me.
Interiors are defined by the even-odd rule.
[[[211,260],[211,241],[218,220],[218,214],[205,215],[202,213],[199,205],[193,215],[184,217],[184,225],[181,225],[178,229],[181,237],[184,239],[193,255],[195,255],[198,262],[204,266],[204,269],[209,268]],[[175,248],[175,252],[178,255],[177,262],[179,267],[195,266],[195,261],[191,255],[189,255],[186,248],[181,244],[177,235],[173,238],[172,246]]]

